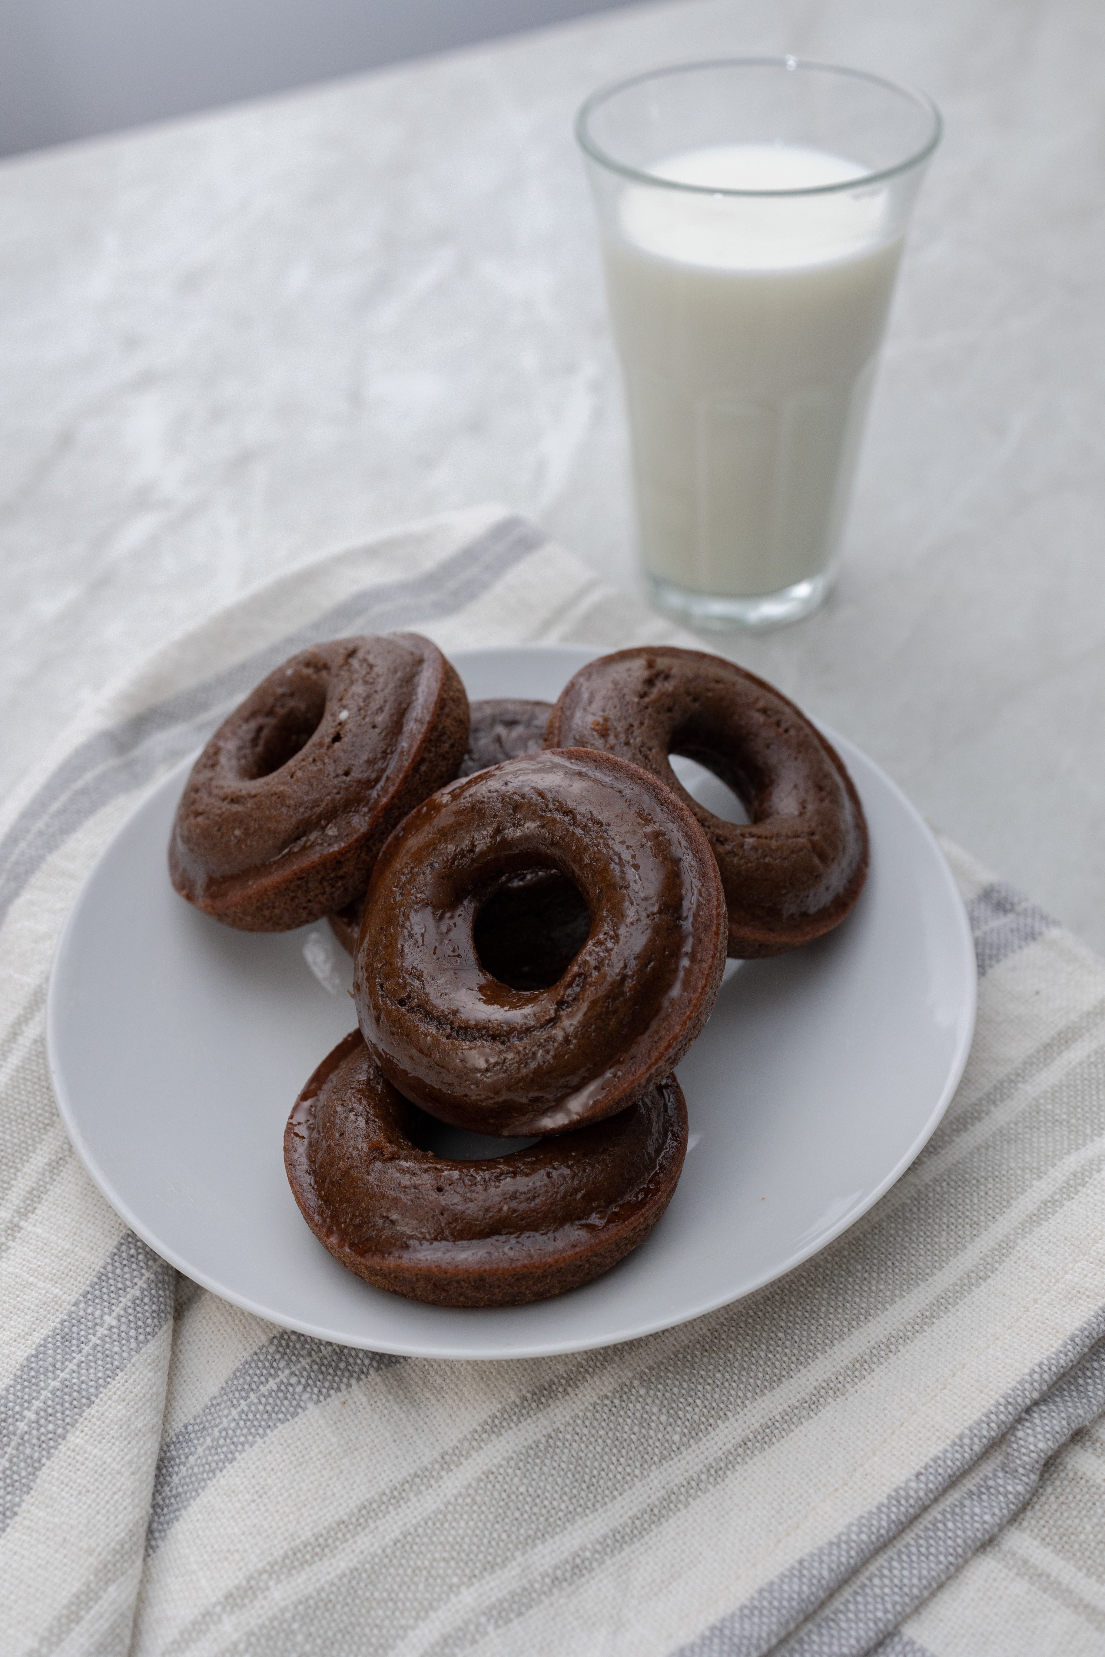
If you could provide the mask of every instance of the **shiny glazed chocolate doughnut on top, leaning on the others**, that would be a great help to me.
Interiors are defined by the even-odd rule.
[[[482,949],[535,870],[570,883],[588,920],[555,983],[530,989]],[[638,766],[567,749],[464,777],[399,825],[368,888],[353,996],[406,1099],[477,1133],[558,1133],[674,1070],[724,958],[721,878],[686,805]]]

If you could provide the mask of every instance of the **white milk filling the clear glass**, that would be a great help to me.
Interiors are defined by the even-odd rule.
[[[810,189],[863,171],[774,144],[694,149],[649,167],[731,191]],[[603,252],[653,575],[750,597],[832,562],[898,225],[878,186],[797,197],[621,187]]]

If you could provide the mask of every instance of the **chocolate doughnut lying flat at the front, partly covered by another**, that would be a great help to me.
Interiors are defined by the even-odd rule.
[[[434,1157],[419,1123],[355,1031],[297,1099],[283,1160],[343,1266],[432,1306],[520,1306],[598,1278],[653,1229],[688,1143],[674,1079],[616,1117],[487,1162]]]

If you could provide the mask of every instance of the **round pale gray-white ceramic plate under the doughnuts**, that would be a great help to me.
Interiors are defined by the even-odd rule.
[[[591,655],[530,646],[454,661],[472,698],[552,701]],[[697,1317],[790,1271],[908,1168],[974,1029],[974,949],[948,863],[883,772],[830,737],[871,830],[863,896],[828,938],[729,969],[679,1067],[691,1115],[679,1188],[605,1278],[535,1306],[454,1311],[373,1289],[315,1241],[282,1135],[300,1087],[356,1022],[348,956],[325,923],[235,933],[172,891],[166,845],[191,761],[104,850],[58,946],[50,1069],[84,1167],[195,1283],[287,1329],[384,1352],[575,1352]],[[688,771],[717,804],[719,784]]]

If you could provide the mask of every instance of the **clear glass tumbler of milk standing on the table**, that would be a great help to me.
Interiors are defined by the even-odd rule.
[[[828,592],[939,131],[921,93],[795,58],[659,70],[583,104],[641,553],[669,615],[779,626]]]

